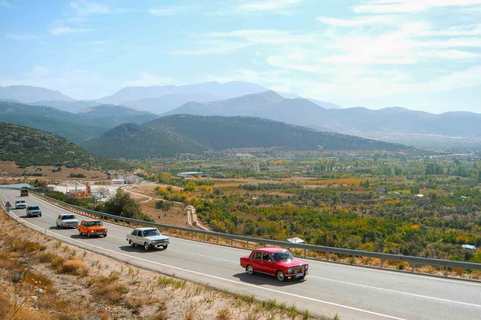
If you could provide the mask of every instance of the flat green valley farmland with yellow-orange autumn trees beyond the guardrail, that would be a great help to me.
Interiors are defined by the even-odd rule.
[[[479,155],[150,160],[143,169],[152,180],[170,172],[157,197],[194,206],[217,232],[481,262],[479,249],[461,248],[481,246]]]

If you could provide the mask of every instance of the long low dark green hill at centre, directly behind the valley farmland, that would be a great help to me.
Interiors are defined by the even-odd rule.
[[[228,148],[402,150],[409,147],[254,117],[170,115],[122,124],[82,146],[109,158],[174,157]]]

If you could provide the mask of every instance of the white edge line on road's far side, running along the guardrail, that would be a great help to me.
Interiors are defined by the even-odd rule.
[[[38,197],[36,197],[38,198]],[[46,204],[49,204],[51,206],[54,206],[54,207],[57,207],[55,206],[54,204],[48,202],[48,201],[45,201],[41,198],[38,198],[38,200],[42,201],[42,202],[45,202]],[[2,199],[3,201],[3,199]],[[3,203],[5,205],[5,202]],[[63,209],[61,207],[57,207],[59,209]],[[65,211],[68,211],[66,209],[63,209]],[[83,215],[80,215],[82,217],[85,217]],[[52,217],[54,218],[54,217]],[[54,218],[55,219],[55,218]],[[128,229],[128,230],[132,230],[132,228],[128,228],[128,227],[125,227],[125,226],[122,226],[122,225],[119,225],[119,224],[115,224],[115,223],[110,223],[110,222],[105,222],[105,223],[108,223],[108,224],[111,224],[113,226],[116,226],[116,227],[121,227],[121,228],[125,228],[125,229]],[[184,239],[184,238],[178,238],[178,237],[172,237],[173,240],[184,240],[184,241],[189,241],[189,242],[196,242],[198,243],[199,245],[207,245],[207,246],[216,246],[216,247],[224,247],[226,249],[234,249],[234,250],[242,250],[242,251],[246,251],[246,250],[251,250],[251,249],[244,249],[244,248],[235,248],[235,247],[228,247],[228,246],[219,246],[219,245],[215,245],[215,244],[209,244],[209,243],[204,243],[204,242],[199,242],[199,241],[192,241],[190,239]],[[251,250],[252,251],[252,250]],[[326,262],[326,261],[318,261],[318,260],[308,260],[308,259],[303,259],[303,258],[297,258],[301,261],[304,261],[306,263],[311,263],[311,262],[315,262],[315,263],[321,263],[321,264],[327,264],[329,266],[334,266],[334,264],[332,264],[331,262]],[[438,281],[445,281],[445,282],[450,282],[450,283],[458,283],[458,284],[470,284],[470,285],[476,285],[476,286],[481,286],[481,283],[472,283],[472,282],[464,282],[464,281],[456,281],[456,280],[450,280],[450,279],[441,279],[441,278],[437,278],[437,277],[429,277],[429,276],[422,276],[422,275],[416,275],[416,274],[409,274],[409,273],[401,273],[401,272],[393,272],[393,271],[389,271],[389,270],[379,270],[379,269],[372,269],[372,268],[365,268],[365,267],[358,267],[358,266],[350,266],[350,265],[345,265],[345,264],[335,264],[336,266],[341,266],[341,267],[348,267],[348,268],[355,268],[355,269],[359,269],[359,270],[362,270],[362,271],[377,271],[377,272],[384,272],[384,273],[388,273],[388,274],[391,274],[391,275],[403,275],[403,276],[410,276],[410,277],[415,277],[415,278],[422,278],[422,279],[426,279],[426,280],[438,280]]]

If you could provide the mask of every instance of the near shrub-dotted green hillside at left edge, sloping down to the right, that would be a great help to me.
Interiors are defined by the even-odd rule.
[[[11,123],[0,123],[0,160],[22,166],[45,165],[89,170],[129,169],[99,157],[50,132]]]

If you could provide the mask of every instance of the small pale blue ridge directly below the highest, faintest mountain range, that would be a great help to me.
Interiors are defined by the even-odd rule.
[[[139,100],[132,100],[132,101],[123,101],[122,104],[127,106],[137,106],[143,108],[147,111],[151,111],[156,114],[161,114],[172,109],[177,108],[178,106],[183,105],[184,103],[190,101],[197,101],[197,102],[208,102],[208,101],[216,101],[222,100],[223,97],[207,92],[188,92],[188,93],[172,93],[166,94],[158,98],[145,98]]]

